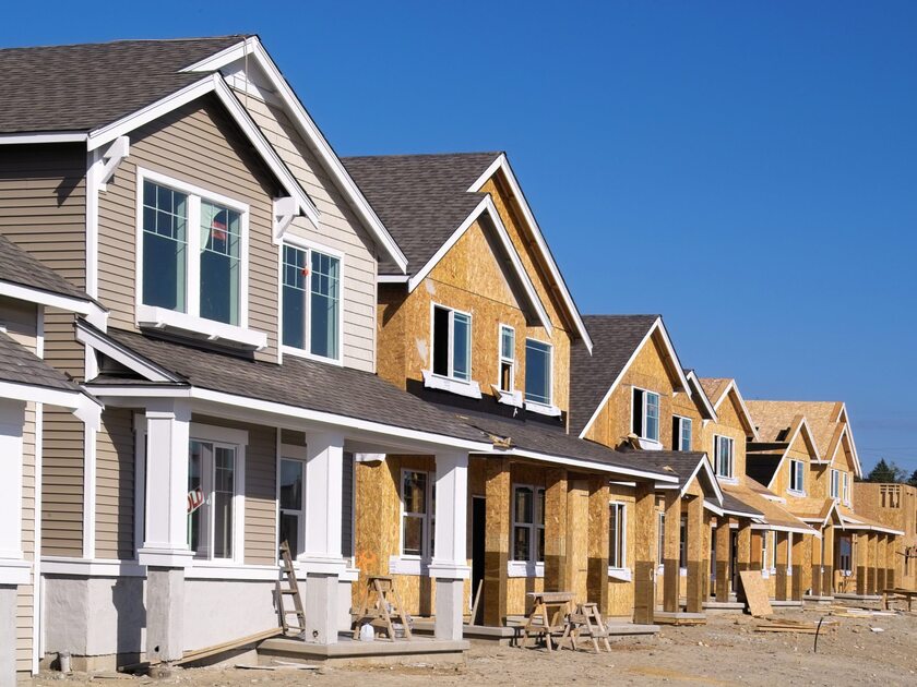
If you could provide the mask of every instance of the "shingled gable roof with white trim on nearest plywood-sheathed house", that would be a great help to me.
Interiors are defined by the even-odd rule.
[[[480,212],[483,202],[488,204],[492,221],[502,227],[492,198],[480,192],[487,180],[502,173],[520,204],[537,253],[557,287],[570,321],[585,346],[592,349],[588,330],[525,202],[505,153],[379,155],[345,157],[342,161],[407,256],[408,290],[414,290],[461,238],[475,213]],[[509,250],[515,252],[513,246]],[[521,265],[516,272],[523,273],[524,280],[529,279]],[[392,280],[391,274],[383,273],[380,281],[386,280]],[[396,277],[395,280],[403,279]]]

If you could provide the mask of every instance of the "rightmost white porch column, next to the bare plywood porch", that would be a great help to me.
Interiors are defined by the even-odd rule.
[[[437,454],[436,549],[430,577],[437,580],[436,638],[462,639],[463,592],[471,576],[465,545],[468,454]]]

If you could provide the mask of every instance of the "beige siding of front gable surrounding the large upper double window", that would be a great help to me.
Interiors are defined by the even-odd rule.
[[[223,106],[205,96],[130,134],[131,154],[99,193],[99,299],[109,324],[135,329],[136,167],[249,205],[249,328],[267,334],[262,360],[277,355],[278,251],[272,241],[279,186]],[[142,190],[141,190],[142,192]]]

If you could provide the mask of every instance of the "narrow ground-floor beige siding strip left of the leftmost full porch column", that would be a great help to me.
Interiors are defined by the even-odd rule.
[[[133,411],[107,408],[96,434],[96,557],[134,557]]]

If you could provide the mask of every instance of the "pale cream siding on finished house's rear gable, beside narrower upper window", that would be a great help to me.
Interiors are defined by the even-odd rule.
[[[314,152],[306,144],[286,114],[253,96],[240,96],[267,141],[277,150],[318,208],[319,230],[294,220],[289,231],[345,254],[344,258],[344,364],[376,371],[376,276],[374,240],[350,210],[347,201]]]

